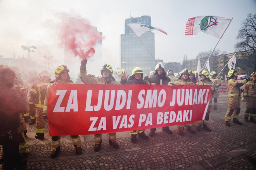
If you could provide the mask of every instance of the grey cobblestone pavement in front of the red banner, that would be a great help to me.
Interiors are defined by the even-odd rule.
[[[157,128],[156,136],[149,140],[139,139],[132,144],[128,132],[117,133],[119,149],[112,148],[103,135],[99,152],[94,151],[93,136],[81,136],[83,153],[76,155],[69,136],[62,136],[61,152],[55,159],[50,158],[50,136],[44,140],[35,139],[35,126],[28,125],[28,143],[30,154],[27,157],[27,169],[31,170],[234,170],[256,169],[256,124],[245,122],[243,113],[245,103],[241,102],[240,121],[242,126],[224,124],[228,97],[220,95],[218,110],[210,113],[210,125],[213,130],[202,130],[197,134],[184,131],[180,136],[176,126],[171,126],[173,134],[167,134]],[[145,131],[149,134],[149,129]],[[2,169],[2,165],[0,165]]]

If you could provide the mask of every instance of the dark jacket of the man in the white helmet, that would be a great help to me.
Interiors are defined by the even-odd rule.
[[[151,78],[149,78],[149,76],[145,76],[144,81],[149,82],[150,84],[156,83],[158,85],[168,85],[168,84],[172,83],[170,78],[168,76],[166,76],[166,73],[164,71],[161,76],[159,76],[157,74],[157,71],[154,73],[154,75],[152,75]]]

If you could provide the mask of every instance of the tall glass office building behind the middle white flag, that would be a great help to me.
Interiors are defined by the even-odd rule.
[[[151,17],[144,15],[125,19],[125,34],[120,36],[120,68],[131,75],[133,68],[138,66],[148,75],[155,67],[155,35],[151,31],[145,32],[139,40],[127,25],[130,23],[151,26]]]

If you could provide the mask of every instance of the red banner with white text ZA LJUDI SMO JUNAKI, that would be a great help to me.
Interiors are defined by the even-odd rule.
[[[204,119],[210,97],[210,85],[52,85],[49,133],[101,134],[193,123]]]

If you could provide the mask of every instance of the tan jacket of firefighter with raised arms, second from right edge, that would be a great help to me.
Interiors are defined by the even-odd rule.
[[[229,79],[228,80],[228,97],[241,98],[240,87],[245,85],[246,83],[247,83],[246,79],[244,79],[240,82],[238,82],[234,78]]]

